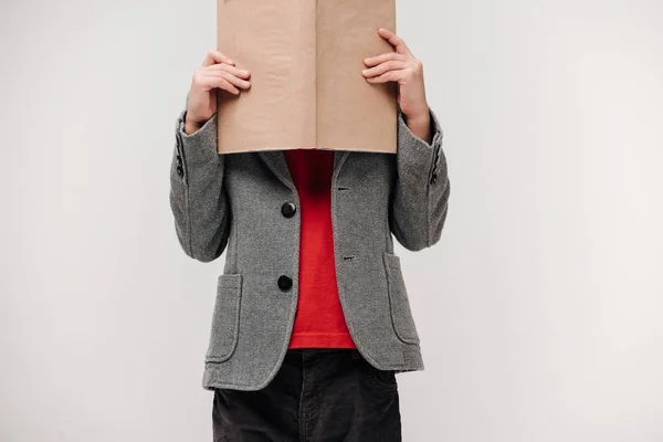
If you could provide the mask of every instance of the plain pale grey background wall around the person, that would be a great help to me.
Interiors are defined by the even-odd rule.
[[[663,3],[398,12],[453,182],[442,241],[397,249],[427,365],[404,440],[663,440]],[[214,13],[1,3],[3,442],[211,440],[224,257],[179,249],[168,172]]]

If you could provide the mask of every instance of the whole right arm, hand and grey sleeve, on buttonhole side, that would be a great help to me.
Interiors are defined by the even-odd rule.
[[[442,151],[442,129],[428,106],[423,63],[406,42],[380,28],[378,34],[394,52],[368,57],[368,83],[398,83],[398,150],[396,182],[390,196],[389,229],[406,249],[418,251],[440,241],[451,186]]]

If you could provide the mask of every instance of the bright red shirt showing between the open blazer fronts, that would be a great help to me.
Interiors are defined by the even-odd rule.
[[[288,348],[356,348],[338,298],[332,231],[334,151],[284,150],[299,194],[299,296]]]

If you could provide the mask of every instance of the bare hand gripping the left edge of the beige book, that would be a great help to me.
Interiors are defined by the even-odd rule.
[[[238,95],[248,90],[251,83],[249,71],[235,67],[234,62],[217,50],[211,50],[193,73],[191,91],[187,102],[185,131],[192,134],[217,113],[217,90]]]

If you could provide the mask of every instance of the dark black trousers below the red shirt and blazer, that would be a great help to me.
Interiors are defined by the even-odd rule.
[[[217,388],[214,442],[400,442],[396,373],[357,349],[288,349],[262,390]]]

